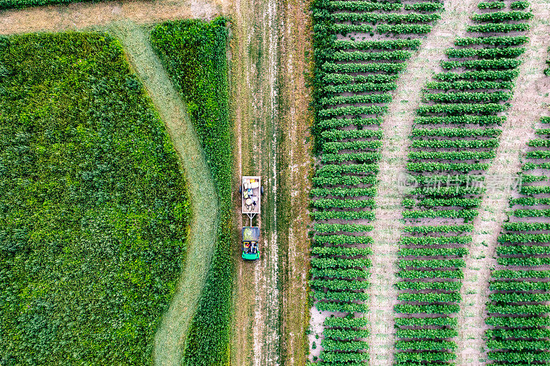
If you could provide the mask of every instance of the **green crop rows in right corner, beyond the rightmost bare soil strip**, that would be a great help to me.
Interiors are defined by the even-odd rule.
[[[491,302],[487,305],[486,319],[488,357],[502,365],[516,362],[546,364],[549,360],[550,343],[547,341],[549,317],[548,301],[550,286],[550,226],[543,222],[532,222],[533,217],[548,216],[547,199],[540,198],[550,191],[548,186],[548,161],[550,118],[541,119],[541,129],[536,130],[540,138],[530,140],[531,147],[523,166],[522,185],[516,189],[519,197],[510,199],[514,208],[509,222],[503,224],[496,248],[496,270],[489,285]],[[534,156],[533,156],[534,155]],[[543,154],[544,155],[544,154]],[[536,173],[536,174],[534,174]],[[541,174],[542,173],[542,174]],[[542,181],[542,185],[540,184]],[[542,208],[542,209],[541,209]]]

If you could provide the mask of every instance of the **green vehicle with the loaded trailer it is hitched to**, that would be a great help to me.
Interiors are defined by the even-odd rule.
[[[241,213],[247,215],[250,219],[250,226],[244,226],[241,231],[243,238],[242,257],[247,261],[256,261],[260,259],[260,250],[258,247],[260,228],[252,226],[252,219],[261,213],[261,195],[263,195],[261,177],[243,176],[239,193],[241,193]]]

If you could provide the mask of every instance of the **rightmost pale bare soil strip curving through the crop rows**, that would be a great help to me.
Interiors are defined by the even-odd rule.
[[[474,219],[474,233],[470,255],[466,258],[462,306],[458,315],[459,337],[457,365],[478,365],[487,360],[483,336],[487,325],[485,303],[489,300],[489,277],[496,265],[496,239],[507,218],[510,188],[521,170],[520,158],[533,138],[533,125],[543,115],[544,105],[550,105],[550,80],[542,70],[546,66],[547,47],[550,45],[550,3],[531,1],[530,42],[522,56],[514,97],[503,126],[496,158],[486,174],[487,193]]]

